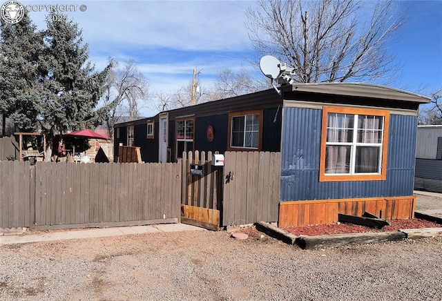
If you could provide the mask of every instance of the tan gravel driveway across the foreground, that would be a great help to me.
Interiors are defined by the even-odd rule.
[[[0,300],[441,300],[442,239],[302,251],[225,231],[0,246]]]

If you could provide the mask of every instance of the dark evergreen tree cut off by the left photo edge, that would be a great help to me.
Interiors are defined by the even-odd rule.
[[[2,136],[5,135],[6,117],[12,119],[17,130],[37,130],[37,104],[41,97],[37,64],[43,48],[41,33],[36,32],[28,14],[15,24],[1,20],[0,30]]]

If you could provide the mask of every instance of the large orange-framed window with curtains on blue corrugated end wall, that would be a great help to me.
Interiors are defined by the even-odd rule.
[[[325,107],[320,180],[385,179],[389,120],[385,110]]]

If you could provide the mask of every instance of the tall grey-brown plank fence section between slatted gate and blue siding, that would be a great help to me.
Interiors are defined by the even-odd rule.
[[[281,153],[224,154],[222,224],[278,222]]]

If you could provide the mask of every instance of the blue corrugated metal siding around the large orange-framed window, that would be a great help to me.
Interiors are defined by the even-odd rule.
[[[417,119],[390,115],[386,181],[319,182],[322,110],[284,108],[280,200],[413,194]]]

